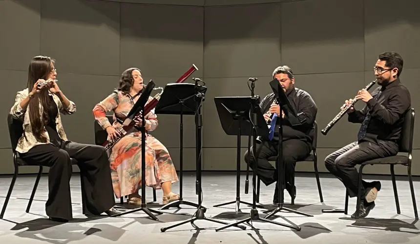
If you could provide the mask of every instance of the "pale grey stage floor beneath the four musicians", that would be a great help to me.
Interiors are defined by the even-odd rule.
[[[147,218],[143,212],[128,214],[122,217],[86,218],[82,215],[80,178],[73,175],[71,179],[71,195],[73,215],[75,220],[61,224],[51,222],[45,215],[44,204],[47,199],[47,176],[41,178],[40,185],[32,203],[30,213],[25,213],[27,199],[31,194],[35,176],[21,176],[15,184],[12,198],[6,209],[3,220],[0,220],[0,241],[3,244],[106,244],[106,243],[143,243],[143,244],[216,244],[216,243],[250,243],[250,244],[298,244],[298,243],[420,243],[420,223],[414,219],[410,187],[406,177],[397,177],[399,203],[401,214],[397,214],[390,177],[366,176],[367,180],[380,179],[382,189],[378,193],[376,207],[368,218],[353,220],[350,216],[340,213],[322,213],[321,209],[332,206],[342,208],[345,191],[342,184],[330,175],[321,174],[321,186],[324,203],[320,203],[315,176],[313,174],[296,174],[297,196],[295,205],[286,207],[297,209],[314,215],[303,217],[294,213],[278,213],[278,218],[272,220],[299,225],[301,231],[268,223],[253,222],[257,230],[247,226],[246,230],[236,227],[216,232],[214,229],[222,224],[204,220],[195,224],[203,229],[196,230],[191,224],[184,224],[162,233],[161,227],[166,227],[189,219],[189,216],[163,214],[159,221]],[[3,205],[12,177],[0,178],[0,206]],[[252,178],[250,178],[251,180]],[[420,182],[414,178],[417,203],[420,205]],[[203,206],[209,208],[206,217],[216,217],[232,223],[234,220],[249,216],[250,206],[241,204],[243,214],[235,215],[234,204],[223,207],[213,207],[218,203],[235,200],[235,175],[225,172],[203,173]],[[251,181],[250,181],[251,183]],[[244,193],[245,175],[241,176],[241,200],[252,203],[252,186],[250,193]],[[173,185],[173,191],[178,192],[179,183]],[[184,200],[196,202],[195,174],[184,173]],[[274,185],[261,185],[260,203],[271,204]],[[147,202],[152,201],[152,191],[147,188]],[[116,199],[116,202],[119,200]],[[162,191],[157,191],[157,202],[162,203]],[[290,203],[290,197],[285,191],[285,203]],[[349,214],[355,211],[356,199],[349,201]],[[160,207],[159,204],[148,204],[150,208]],[[178,213],[194,213],[190,206],[184,206]],[[176,209],[166,210],[175,212]],[[264,210],[263,210],[264,211]],[[259,210],[260,216],[265,216]],[[225,221],[225,220],[222,220]]]

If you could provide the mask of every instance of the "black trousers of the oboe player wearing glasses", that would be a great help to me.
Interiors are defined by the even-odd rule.
[[[347,146],[333,152],[325,158],[325,166],[333,173],[347,188],[349,197],[357,197],[358,172],[357,164],[363,162],[390,157],[397,155],[398,144],[390,141],[378,140],[374,142],[352,142]],[[380,185],[363,181],[360,187],[362,198],[366,195],[366,188],[377,187]]]

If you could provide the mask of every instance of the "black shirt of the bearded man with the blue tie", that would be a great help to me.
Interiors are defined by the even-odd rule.
[[[282,106],[285,116],[282,119],[283,126],[283,141],[290,139],[298,139],[308,143],[312,143],[315,133],[314,122],[318,108],[315,105],[311,95],[304,90],[294,88],[287,95],[290,104],[297,114],[297,118],[301,124],[292,125],[289,121],[289,113],[291,108]],[[275,100],[274,93],[268,94],[260,102],[260,109],[262,113],[267,113],[270,109],[271,104]],[[279,125],[280,120],[276,121],[276,125]],[[278,140],[278,126],[275,127],[273,140]]]

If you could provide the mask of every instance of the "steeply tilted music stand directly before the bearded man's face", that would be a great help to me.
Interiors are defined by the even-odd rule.
[[[280,111],[286,110],[287,109],[287,117],[289,122],[292,125],[299,125],[301,124],[301,122],[299,121],[296,112],[294,111],[292,105],[289,102],[289,99],[287,98],[286,93],[284,93],[283,89],[280,86],[280,83],[277,79],[274,79],[273,81],[270,81],[270,86],[273,89],[274,92],[274,96],[277,99],[277,102],[280,106]],[[264,213],[269,213],[265,218],[268,219],[272,216],[274,216],[274,214],[276,214],[277,212],[279,212],[280,210],[286,210],[288,212],[293,212],[296,214],[300,214],[300,215],[304,215],[307,217],[314,217],[313,215],[307,214],[307,213],[303,213],[300,211],[296,211],[294,209],[290,209],[290,208],[286,208],[283,206],[284,204],[284,197],[283,197],[283,193],[284,193],[284,170],[285,170],[285,165],[283,163],[283,126],[282,126],[282,117],[279,116],[278,117],[279,120],[279,132],[278,132],[278,156],[277,156],[277,160],[276,160],[276,168],[277,168],[277,189],[278,189],[278,195],[279,195],[279,201],[277,203],[277,207],[273,208],[271,210],[267,210]],[[291,223],[291,222],[290,222]],[[293,223],[292,223],[293,224]],[[295,230],[300,230],[300,227],[295,225],[295,226],[290,226],[291,228],[294,228]]]

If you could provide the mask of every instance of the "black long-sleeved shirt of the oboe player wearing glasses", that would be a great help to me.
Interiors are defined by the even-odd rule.
[[[378,100],[372,98],[362,110],[349,114],[349,122],[362,123],[367,112],[371,119],[366,129],[366,137],[385,141],[398,142],[405,113],[411,108],[411,97],[407,87],[399,79],[379,86],[372,92],[374,97],[382,91]]]

